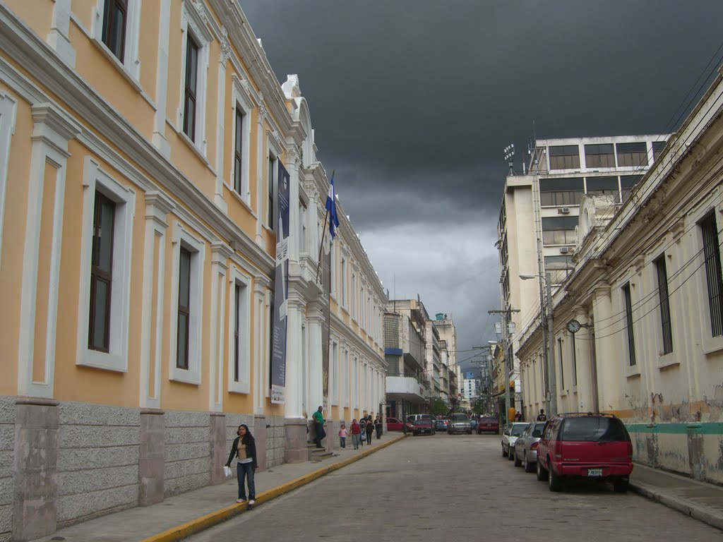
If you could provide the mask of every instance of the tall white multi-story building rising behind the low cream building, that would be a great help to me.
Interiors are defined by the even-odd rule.
[[[609,195],[615,205],[625,203],[666,139],[666,135],[538,139],[527,173],[508,176],[497,247],[501,305],[518,310],[509,317],[515,324],[509,337],[511,351],[517,352],[518,336],[538,321],[545,291],[542,277],[549,273],[555,291],[573,269],[583,195]],[[539,275],[539,280],[523,282],[520,273]],[[508,335],[509,328],[503,329]],[[513,357],[512,362],[515,396],[511,405],[517,410],[544,408],[544,375],[521,382],[519,359]],[[500,403],[504,404],[503,395]]]

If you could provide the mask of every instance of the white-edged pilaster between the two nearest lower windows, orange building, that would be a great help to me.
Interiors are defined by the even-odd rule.
[[[161,192],[145,194],[143,309],[140,337],[140,406],[142,408],[161,408],[163,278],[166,276],[166,230],[168,229],[166,215],[174,207],[174,202]],[[155,319],[152,318],[153,311]],[[154,337],[155,344],[152,344],[151,337]],[[151,377],[153,377],[153,389],[150,386]]]

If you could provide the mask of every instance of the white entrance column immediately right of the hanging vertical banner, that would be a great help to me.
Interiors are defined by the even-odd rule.
[[[289,286],[291,290],[293,286]],[[289,291],[286,313],[286,403],[285,418],[304,418],[301,411],[301,319],[304,300]]]

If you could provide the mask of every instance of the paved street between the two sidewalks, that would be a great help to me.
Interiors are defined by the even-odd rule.
[[[723,533],[607,484],[547,484],[500,437],[417,436],[189,540],[723,541]]]

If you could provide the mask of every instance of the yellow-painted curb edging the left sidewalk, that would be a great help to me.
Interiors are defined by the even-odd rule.
[[[394,444],[395,442],[399,442],[404,437],[405,437],[404,435],[401,435],[401,436],[398,436],[395,439],[389,440],[387,442],[382,442],[373,448],[370,448],[364,452],[361,452],[357,455],[349,457],[348,459],[340,461],[339,463],[334,463],[333,465],[329,465],[328,467],[323,467],[323,468],[320,468],[317,470],[313,470],[312,472],[310,472],[308,474],[304,474],[304,476],[300,476],[299,478],[296,478],[295,480],[292,480],[292,481],[286,482],[286,483],[282,483],[281,486],[276,486],[275,488],[268,489],[267,491],[263,491],[262,493],[260,493],[256,496],[256,505],[263,504],[265,502],[269,502],[270,500],[275,499],[276,497],[281,496],[283,494],[286,494],[289,491],[293,491],[294,489],[297,489],[301,486],[305,486],[305,485],[307,485],[307,483],[315,481],[317,478],[321,478],[325,474],[333,473],[335,470],[338,470],[342,467],[346,467],[346,465],[350,465],[351,463],[359,461],[360,459],[367,457],[367,455],[373,454],[374,452],[376,452],[379,449],[386,448],[386,447]],[[174,528],[165,530],[165,531],[163,531],[163,533],[158,533],[158,534],[150,536],[148,538],[144,538],[141,542],[176,542],[179,540],[183,540],[184,538],[188,538],[191,535],[200,533],[202,530],[213,527],[214,525],[218,525],[219,523],[224,522],[226,520],[230,520],[231,517],[242,514],[243,512],[246,512],[246,510],[247,510],[246,504],[231,504],[227,507],[216,510],[215,512],[210,512],[210,514],[202,515],[201,517],[197,517],[194,520],[185,522],[181,525],[177,525]]]

